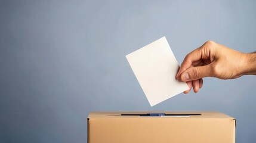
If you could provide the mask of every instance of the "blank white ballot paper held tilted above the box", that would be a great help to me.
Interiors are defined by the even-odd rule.
[[[151,106],[189,89],[175,78],[179,65],[165,37],[126,57]]]

